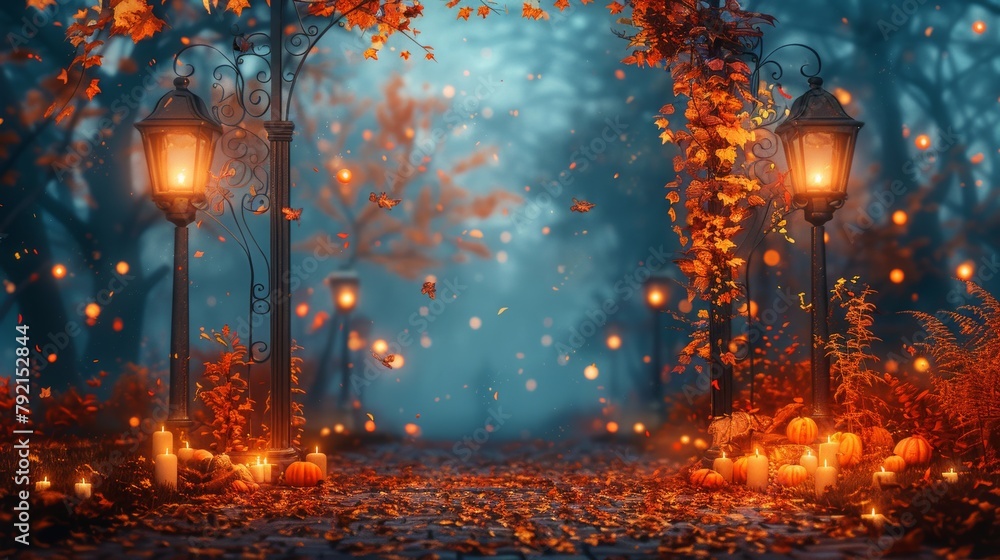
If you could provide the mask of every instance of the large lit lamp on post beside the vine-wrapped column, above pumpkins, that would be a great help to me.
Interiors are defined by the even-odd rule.
[[[864,123],[852,119],[823,79],[809,78],[809,91],[792,107],[775,133],[791,172],[793,201],[812,224],[812,399],[813,418],[830,423],[830,358],[826,353],[828,292],[824,224],[847,199],[854,145]]]

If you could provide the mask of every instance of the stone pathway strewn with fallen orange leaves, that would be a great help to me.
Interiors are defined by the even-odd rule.
[[[678,468],[610,445],[482,449],[464,463],[447,448],[386,445],[333,456],[316,488],[168,505],[25,557],[821,560],[905,544],[791,495],[693,490]]]

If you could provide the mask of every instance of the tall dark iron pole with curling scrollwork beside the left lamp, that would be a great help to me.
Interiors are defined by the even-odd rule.
[[[316,44],[328,31],[344,23],[343,16],[314,18],[321,22],[310,19],[308,2],[271,0],[269,4],[269,33],[245,34],[234,26],[231,53],[213,45],[188,45],[174,55],[174,72],[187,83],[195,73],[188,57],[190,61],[207,59],[190,53],[191,49],[207,49],[210,56],[223,61],[211,71],[211,115],[222,125],[219,147],[226,159],[217,183],[207,187],[203,214],[229,233],[246,254],[250,266],[249,361],[270,364],[268,458],[288,464],[298,457],[291,439],[291,230],[282,212],[291,207],[290,144],[295,125],[288,114],[308,55],[319,51]],[[291,20],[286,21],[286,12],[294,14]],[[265,137],[244,123],[265,116]],[[234,193],[240,189],[244,189],[242,198],[234,203]],[[232,215],[231,227],[220,219],[226,212]],[[248,222],[258,214],[268,214],[267,253]],[[261,267],[266,269],[266,284],[256,276]],[[264,316],[270,319],[268,343],[253,332]]]

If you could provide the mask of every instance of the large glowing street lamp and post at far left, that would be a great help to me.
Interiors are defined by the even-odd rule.
[[[170,326],[170,401],[167,424],[188,430],[188,229],[195,204],[204,202],[215,142],[222,127],[187,78],[160,98],[148,117],[135,124],[142,136],[152,198],[174,224],[174,293]]]

